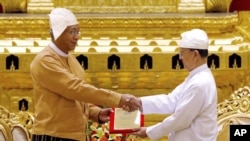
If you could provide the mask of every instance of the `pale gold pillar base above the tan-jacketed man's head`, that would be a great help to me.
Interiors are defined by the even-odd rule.
[[[54,8],[52,0],[30,0],[27,7],[27,13],[46,14]]]

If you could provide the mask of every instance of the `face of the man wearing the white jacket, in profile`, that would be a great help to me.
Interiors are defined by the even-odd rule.
[[[195,50],[190,50],[189,48],[180,48],[179,57],[180,60],[182,60],[184,68],[191,71],[195,64]]]

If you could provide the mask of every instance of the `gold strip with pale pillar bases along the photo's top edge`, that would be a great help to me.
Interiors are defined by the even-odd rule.
[[[47,13],[67,7],[76,13],[227,12],[232,0],[0,0],[4,12]],[[193,4],[196,3],[196,4]]]

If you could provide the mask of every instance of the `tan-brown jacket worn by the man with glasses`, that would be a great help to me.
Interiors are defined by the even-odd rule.
[[[98,121],[100,108],[94,104],[117,107],[121,99],[118,93],[87,84],[76,58],[59,56],[51,47],[37,54],[30,72],[35,105],[32,134],[85,141],[88,120]]]

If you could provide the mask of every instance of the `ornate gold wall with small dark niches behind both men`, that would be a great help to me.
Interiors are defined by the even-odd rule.
[[[27,8],[24,8],[27,13],[0,15],[1,105],[13,112],[34,111],[29,64],[50,41],[46,13],[56,5],[67,5],[77,15],[82,34],[78,47],[72,53],[88,59],[87,63],[84,59],[80,63],[85,68],[87,81],[97,87],[136,96],[170,92],[187,75],[175,58],[178,56],[180,33],[191,28],[202,28],[210,37],[209,66],[216,78],[219,102],[228,98],[234,90],[250,83],[248,11],[166,13],[157,10],[157,6],[137,4],[137,8],[141,7],[139,10],[148,8],[153,12],[136,12],[133,6],[123,6],[132,8],[128,13],[123,13],[115,6],[102,6],[102,10],[114,10],[107,14],[106,10],[101,11],[96,3],[92,3],[92,11],[80,13],[74,2],[30,0],[30,3],[26,3]],[[141,2],[145,5],[146,1]],[[48,9],[35,9],[39,4]],[[208,7],[207,4],[204,6]],[[178,10],[178,3],[173,9]],[[114,65],[110,62],[112,56],[118,57],[120,63]],[[146,63],[142,61],[144,57],[151,60]],[[146,124],[150,125],[161,120],[162,116],[147,116],[146,119]]]

